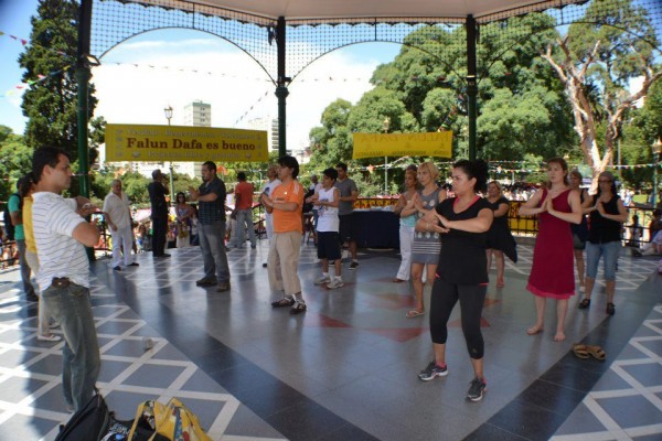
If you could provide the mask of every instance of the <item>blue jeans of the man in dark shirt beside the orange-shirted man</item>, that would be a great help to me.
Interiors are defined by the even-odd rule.
[[[225,222],[215,220],[211,224],[199,224],[197,236],[202,261],[204,262],[204,278],[216,279],[218,282],[229,280],[229,267],[225,254]]]

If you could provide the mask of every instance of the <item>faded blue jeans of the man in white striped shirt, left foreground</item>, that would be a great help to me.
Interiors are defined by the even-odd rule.
[[[64,334],[62,388],[66,404],[77,411],[92,398],[102,367],[89,290],[75,283],[51,286],[42,292],[42,301]]]

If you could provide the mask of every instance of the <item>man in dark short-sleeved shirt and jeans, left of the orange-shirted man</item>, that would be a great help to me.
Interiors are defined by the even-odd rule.
[[[204,262],[204,277],[195,282],[199,287],[213,287],[216,292],[229,291],[229,267],[225,254],[225,183],[216,175],[216,164],[202,164],[202,185],[191,187],[191,201],[199,202],[200,249]]]

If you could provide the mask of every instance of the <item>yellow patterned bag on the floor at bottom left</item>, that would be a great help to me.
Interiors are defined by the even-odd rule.
[[[145,422],[153,430],[150,441],[164,437],[170,441],[212,441],[200,427],[197,417],[177,398],[170,399],[168,405],[148,400],[136,411],[136,419],[129,432],[129,440],[134,439],[138,426]]]

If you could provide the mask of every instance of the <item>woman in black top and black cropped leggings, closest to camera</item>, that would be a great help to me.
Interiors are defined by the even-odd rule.
[[[480,330],[488,291],[487,232],[494,213],[477,193],[484,191],[488,165],[484,161],[458,161],[452,169],[456,197],[441,201],[417,222],[417,229],[441,235],[439,265],[430,295],[430,335],[435,358],[418,374],[423,381],[448,374],[446,341],[448,319],[460,302],[462,332],[469,351],[473,379],[467,399],[480,401],[487,383],[483,372],[484,342]]]

